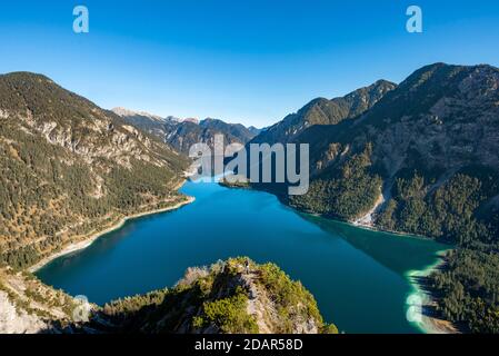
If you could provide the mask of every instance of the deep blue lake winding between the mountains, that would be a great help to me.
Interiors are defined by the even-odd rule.
[[[346,333],[419,333],[406,318],[406,277],[446,247],[300,215],[269,194],[188,182],[196,202],[140,218],[38,271],[44,283],[104,304],[172,286],[190,266],[249,256],[272,261],[315,295]]]

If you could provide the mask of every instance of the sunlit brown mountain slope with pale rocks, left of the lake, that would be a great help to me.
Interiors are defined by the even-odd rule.
[[[43,76],[0,76],[0,263],[14,267],[184,199],[183,157]]]

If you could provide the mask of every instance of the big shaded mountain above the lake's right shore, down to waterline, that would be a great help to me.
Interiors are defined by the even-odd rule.
[[[446,189],[473,181],[483,198],[472,202],[476,206],[469,216],[480,220],[495,214],[490,207],[499,196],[498,128],[498,68],[441,62],[425,66],[361,116],[341,125],[309,127],[295,139],[311,145],[312,162],[311,194],[301,200],[297,198],[296,204],[307,211],[320,210],[336,218],[381,224],[390,230],[466,240],[471,235],[469,230],[446,230],[449,221],[460,221],[462,214],[456,214],[457,210],[450,205],[445,207],[447,202],[441,201],[438,209],[429,211],[433,201],[449,196],[443,192]],[[367,166],[349,167],[358,164],[359,157]],[[350,175],[352,171],[355,175]],[[376,179],[378,182],[371,185]],[[415,184],[418,179],[419,186],[411,188],[416,195],[400,194],[399,189],[406,189],[400,181]],[[362,180],[363,186],[359,184]],[[341,184],[337,185],[338,181]],[[342,191],[345,187],[348,189]],[[361,188],[356,190],[357,187]],[[418,204],[413,198],[419,199]],[[369,205],[362,206],[369,199]],[[385,199],[386,204],[377,206],[378,199]],[[343,209],[345,205],[338,204],[353,200],[362,204],[355,209],[351,206]],[[463,199],[468,200],[471,199]],[[418,211],[422,201],[428,206],[425,211]],[[376,222],[376,217],[383,214],[385,220]],[[483,234],[495,234],[495,230]]]

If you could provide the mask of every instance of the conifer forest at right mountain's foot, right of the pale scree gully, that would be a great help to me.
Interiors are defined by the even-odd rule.
[[[476,170],[473,175],[468,171],[455,175],[437,188],[418,172],[398,178],[378,225],[459,245],[497,240],[493,225],[479,214],[482,202],[499,191],[497,176],[486,170],[481,174]]]

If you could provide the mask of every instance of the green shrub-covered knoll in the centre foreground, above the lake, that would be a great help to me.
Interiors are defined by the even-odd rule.
[[[263,307],[259,320],[248,312],[256,298]],[[259,323],[272,333],[296,333],[307,323],[321,333],[338,333],[322,322],[316,300],[300,283],[276,265],[259,266],[242,257],[210,268],[190,268],[172,289],[112,301],[101,317],[127,333],[256,334],[261,332]]]

